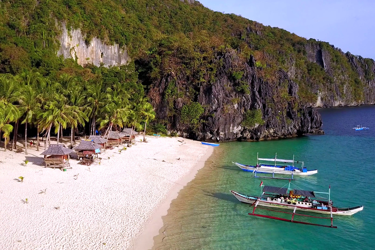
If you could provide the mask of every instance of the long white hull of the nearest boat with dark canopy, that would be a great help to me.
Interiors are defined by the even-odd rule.
[[[230,190],[230,192],[243,203],[253,204],[258,200],[258,197],[255,196],[249,196],[245,194],[238,193],[236,191]],[[277,202],[277,201],[267,201],[267,200],[259,200],[258,206],[262,207],[269,207],[269,208],[282,208],[282,209],[291,209],[293,210],[296,208],[296,210],[301,211],[307,211],[307,212],[313,212],[313,213],[323,213],[323,214],[331,214],[330,209],[318,209],[318,208],[309,208],[309,206],[305,206],[302,204],[294,205],[294,204],[288,204],[287,202]],[[333,215],[353,215],[354,213],[357,213],[359,211],[363,210],[363,206],[357,206],[354,208],[336,208],[333,207],[332,214]]]

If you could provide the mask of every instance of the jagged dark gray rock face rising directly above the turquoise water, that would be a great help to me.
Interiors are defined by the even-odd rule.
[[[217,70],[217,80],[196,86],[195,89],[198,93],[196,101],[206,107],[204,122],[198,132],[191,131],[180,121],[178,114],[183,105],[187,104],[186,99],[174,100],[173,115],[170,115],[171,106],[166,100],[151,98],[158,118],[168,121],[169,130],[202,141],[259,141],[321,133],[320,114],[315,108],[308,109],[298,104],[298,85],[289,79],[286,72],[278,72],[278,83],[269,83],[258,76],[252,57],[249,62],[243,63],[235,53],[226,53],[220,60],[223,66]],[[235,80],[231,77],[231,72],[233,65],[239,63],[242,63],[244,74],[240,80]],[[239,81],[249,85],[250,94],[236,90]],[[176,77],[167,75],[159,83],[155,83],[153,89],[163,95],[169,83],[175,83],[180,91],[191,88],[187,84],[187,77],[182,73]],[[277,98],[281,91],[287,92],[285,99]],[[262,111],[264,124],[246,128],[242,125],[244,113],[253,109]]]

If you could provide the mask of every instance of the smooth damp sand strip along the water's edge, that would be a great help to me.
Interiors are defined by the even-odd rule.
[[[206,153],[198,160],[195,167],[185,175],[176,185],[171,188],[167,194],[167,198],[156,208],[155,212],[151,215],[150,220],[147,222],[144,230],[136,238],[134,248],[135,250],[149,250],[154,246],[154,237],[157,237],[164,226],[163,216],[167,215],[168,209],[172,201],[178,197],[179,192],[191,182],[198,171],[205,167],[207,160],[213,154],[214,148],[208,146]]]

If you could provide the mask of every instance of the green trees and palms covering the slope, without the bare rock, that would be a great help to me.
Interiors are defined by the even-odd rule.
[[[86,35],[86,43],[98,37],[109,44],[120,44],[127,49],[132,62],[122,67],[82,67],[75,60],[57,57],[60,46],[57,36],[61,33],[62,22],[68,30],[80,28]],[[309,46],[320,47],[331,58],[329,70],[308,60]],[[80,99],[82,102],[77,108],[85,114],[81,124],[90,125],[90,131],[111,124],[137,126],[142,119],[137,115],[140,108],[136,105],[146,102],[144,88],[150,91],[152,85],[165,76],[176,79],[183,75],[187,79],[187,89],[191,90],[188,94],[179,90],[173,81],[168,83],[164,93],[169,115],[173,115],[176,98],[194,101],[202,84],[216,80],[224,63],[221,56],[226,53],[235,54],[237,58],[238,63],[233,63],[232,71],[227,73],[236,83],[235,90],[243,94],[250,94],[249,83],[241,80],[243,65],[253,56],[258,76],[269,83],[278,82],[276,72],[280,69],[289,72],[293,68],[295,73],[291,78],[299,85],[302,103],[316,102],[318,91],[330,91],[335,97],[344,96],[343,86],[348,83],[352,100],[363,100],[364,83],[348,61],[348,53],[345,55],[326,42],[306,40],[280,28],[211,11],[198,1],[188,4],[181,0],[2,0],[0,74],[3,74],[1,79],[6,79],[3,81],[15,82],[17,86],[11,94],[2,94],[8,97],[0,96],[3,100],[0,105],[10,108],[14,114],[0,117],[0,129],[5,131],[5,136],[11,131],[5,125],[17,121],[38,125],[39,119],[46,119],[40,115],[40,110],[65,107],[48,103],[53,100],[62,100],[67,106],[78,105],[69,104],[73,89],[75,94],[84,95],[79,96],[83,100]],[[374,78],[370,70],[374,61],[359,59],[363,61],[361,66],[367,69],[365,78],[370,81]],[[38,76],[38,80],[27,79],[25,75]],[[51,96],[59,97],[39,99],[46,89]],[[21,101],[26,93],[30,100],[34,98],[32,105]],[[193,113],[184,113],[191,108]],[[183,121],[189,119],[196,129],[202,110],[197,104],[187,104],[181,118]],[[137,114],[129,118],[127,112]],[[248,125],[258,117],[258,113],[252,112],[258,111],[245,114],[250,119],[246,122]],[[187,118],[187,115],[193,117]],[[53,125],[55,130],[59,124],[63,128],[77,126],[73,121],[61,120]],[[49,120],[43,121],[41,129],[50,129],[48,125]]]

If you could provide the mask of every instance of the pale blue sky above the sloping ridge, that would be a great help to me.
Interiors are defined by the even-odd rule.
[[[329,42],[343,52],[375,59],[375,0],[200,0],[304,38]]]

